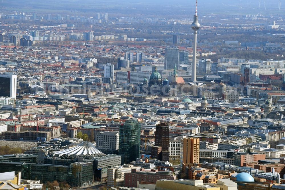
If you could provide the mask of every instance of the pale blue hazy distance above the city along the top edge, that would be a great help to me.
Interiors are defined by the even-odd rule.
[[[5,0],[4,0],[5,2]],[[265,2],[265,3],[264,3]],[[284,2],[284,3],[283,3]],[[0,0],[0,11],[23,11],[46,13],[51,10],[79,12],[104,11],[111,14],[182,14],[193,15],[196,0]],[[198,13],[232,14],[283,14],[285,1],[281,0],[281,11],[278,9],[279,0],[198,0]],[[266,7],[266,10],[265,10]]]

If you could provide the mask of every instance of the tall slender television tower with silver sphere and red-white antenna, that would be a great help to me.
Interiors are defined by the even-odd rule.
[[[197,56],[197,31],[200,29],[201,25],[198,23],[197,15],[197,0],[196,0],[196,12],[194,15],[194,21],[191,25],[192,30],[194,30],[194,45],[193,45],[193,61],[192,61],[192,82],[197,82],[196,78],[196,56]]]

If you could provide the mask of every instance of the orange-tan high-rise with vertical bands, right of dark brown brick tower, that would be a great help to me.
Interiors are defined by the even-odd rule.
[[[199,163],[200,140],[183,138],[180,142],[180,168],[182,172],[188,164]]]

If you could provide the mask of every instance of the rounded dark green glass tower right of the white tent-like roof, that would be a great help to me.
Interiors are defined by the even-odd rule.
[[[119,154],[121,163],[128,164],[140,156],[141,124],[137,119],[127,119],[119,127]]]

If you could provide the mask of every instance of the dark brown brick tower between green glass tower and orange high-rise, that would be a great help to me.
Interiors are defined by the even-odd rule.
[[[151,154],[160,161],[169,161],[169,127],[166,123],[156,125],[155,145]]]

